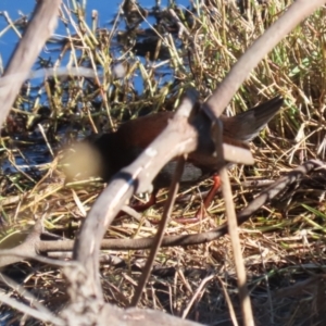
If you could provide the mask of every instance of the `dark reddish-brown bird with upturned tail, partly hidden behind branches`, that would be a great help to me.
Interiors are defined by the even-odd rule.
[[[277,96],[237,115],[221,115],[223,142],[248,148],[248,143],[259,135],[280,110],[283,103],[283,98]],[[104,181],[110,181],[113,175],[137,159],[167,126],[173,116],[174,112],[171,111],[149,114],[123,123],[116,131],[99,134],[88,138],[86,142],[90,147],[91,153],[84,155],[84,158],[89,156],[91,162],[85,163],[84,159],[78,158],[76,161],[79,164],[84,162],[84,167],[75,168],[77,163],[71,163],[72,168],[74,172],[83,171],[84,176],[99,176]],[[208,160],[208,158],[211,158],[211,153],[215,151],[213,140],[208,141],[208,139],[211,139],[208,120],[209,117],[204,114],[201,114],[201,118],[197,120],[197,127],[200,130],[199,146],[196,151],[188,154],[180,185],[191,186],[209,176],[216,175],[216,161]],[[172,160],[155,177],[153,180],[154,195],[159,189],[170,186],[175,166],[176,160]],[[218,183],[217,178],[215,178],[215,183]],[[215,188],[218,188],[216,184]],[[211,199],[213,196],[214,193],[211,193]],[[208,202],[210,202],[209,199]],[[205,201],[204,205],[206,206],[209,203]]]

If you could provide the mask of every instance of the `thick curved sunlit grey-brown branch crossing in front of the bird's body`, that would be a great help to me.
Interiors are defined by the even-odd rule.
[[[122,204],[135,191],[148,190],[151,180],[167,161],[196,148],[196,133],[192,127],[189,127],[187,120],[197,102],[197,92],[193,90],[188,91],[166,129],[133,164],[122,170],[112,179],[110,186],[101,193],[85,220],[80,235],[76,240],[74,255],[87,268],[88,279],[92,284],[90,287],[97,289],[96,296],[99,298],[102,298],[98,276],[101,239],[108,226],[120,212]],[[175,143],[175,147],[168,148],[166,143]]]

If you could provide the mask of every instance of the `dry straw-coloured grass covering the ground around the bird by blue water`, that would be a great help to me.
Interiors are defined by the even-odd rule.
[[[7,238],[16,243],[20,235],[48,206],[47,229],[73,238],[103,185],[96,181],[65,185],[57,160],[60,149],[77,135],[111,130],[122,121],[139,114],[174,110],[183,90],[190,85],[205,99],[246,48],[277,20],[285,2],[275,0],[266,8],[253,8],[252,24],[235,9],[223,7],[222,1],[206,1],[206,5],[192,11],[174,7],[190,35],[185,33],[180,38],[167,33],[175,30],[175,25],[165,11],[161,12],[161,24],[151,26],[150,32],[135,29],[127,34],[117,27],[124,20],[122,15],[116,16],[111,30],[96,30],[87,26],[82,11],[64,10],[67,38],[52,64],[62,66],[68,61],[73,66],[91,67],[99,73],[99,78],[46,79],[36,91],[41,100],[36,92],[22,90],[3,130],[8,135],[2,138],[3,156],[13,162],[14,156],[30,150],[30,143],[35,146],[32,133],[39,133],[38,123],[46,130],[55,160],[41,168],[3,174],[2,244]],[[133,13],[139,17],[137,9]],[[228,112],[235,114],[276,93],[286,99],[285,110],[252,145],[255,165],[230,171],[237,209],[261,190],[241,186],[243,180],[275,180],[306,160],[325,160],[325,8],[321,9],[279,43],[252,72],[230,103]],[[77,21],[76,30],[72,22]],[[160,41],[154,43],[155,53],[140,60],[131,45],[136,41],[135,35],[149,33]],[[159,54],[163,55],[162,60],[149,60]],[[49,62],[40,60],[39,64],[47,66]],[[117,67],[124,67],[123,78],[116,78]],[[30,113],[26,113],[26,106]],[[16,141],[17,134],[25,135],[25,143]],[[197,195],[206,189],[209,183],[184,191]],[[162,192],[161,198],[164,196]],[[319,174],[311,175],[242,225],[243,256],[258,325],[325,324],[324,196],[324,178]],[[200,200],[181,202],[175,208],[174,216],[191,216],[199,204]],[[147,217],[160,218],[160,208],[148,210],[140,224],[127,216],[116,220],[108,237],[150,237],[156,225],[146,223]],[[197,224],[171,222],[166,233],[200,233],[220,225],[225,221],[223,199],[216,197],[208,213],[210,217]],[[15,234],[18,240],[10,237]],[[120,259],[118,264],[112,264],[103,256],[101,273],[105,298],[126,306],[147,251],[108,251],[105,254]],[[8,268],[10,274],[13,271],[18,273],[14,276],[16,279],[24,280],[26,288],[33,289],[52,309],[60,309],[66,300],[60,272],[34,263]],[[208,244],[162,249],[140,306],[181,316],[191,299],[195,300],[187,318],[210,325],[233,325],[231,306],[239,316],[227,236]],[[4,311],[4,306],[2,309]]]

